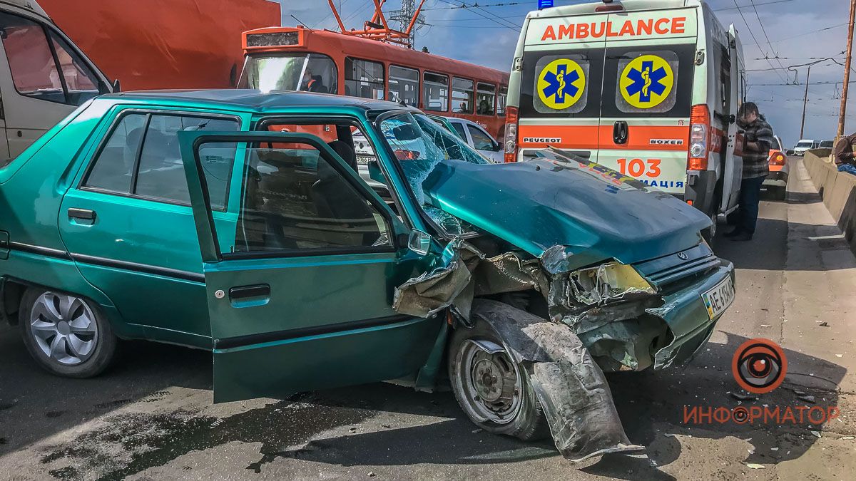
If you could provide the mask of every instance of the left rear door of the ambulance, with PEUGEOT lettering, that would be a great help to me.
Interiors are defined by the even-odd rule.
[[[608,18],[530,21],[520,75],[520,160],[554,146],[597,162]]]

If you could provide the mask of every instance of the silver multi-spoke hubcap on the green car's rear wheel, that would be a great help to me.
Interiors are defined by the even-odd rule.
[[[98,324],[86,301],[46,292],[30,312],[30,332],[41,352],[62,365],[78,365],[92,356]]]

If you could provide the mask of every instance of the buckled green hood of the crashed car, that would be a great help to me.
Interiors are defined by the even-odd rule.
[[[696,246],[710,226],[668,193],[576,160],[445,160],[422,187],[429,204],[541,258],[553,273],[669,255]]]

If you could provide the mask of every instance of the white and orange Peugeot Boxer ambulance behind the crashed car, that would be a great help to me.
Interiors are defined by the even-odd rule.
[[[704,0],[534,11],[514,53],[505,161],[571,151],[684,199],[714,221],[712,238],[737,206],[745,96],[740,39]]]

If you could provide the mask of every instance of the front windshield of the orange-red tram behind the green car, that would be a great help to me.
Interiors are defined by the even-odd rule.
[[[329,56],[316,53],[247,56],[238,87],[262,92],[302,90],[336,93],[338,75],[336,63]]]

